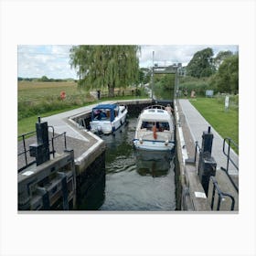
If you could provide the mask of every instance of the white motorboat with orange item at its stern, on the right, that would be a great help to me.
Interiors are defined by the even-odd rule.
[[[175,145],[172,113],[162,105],[145,108],[138,118],[133,145],[144,150],[172,150]]]

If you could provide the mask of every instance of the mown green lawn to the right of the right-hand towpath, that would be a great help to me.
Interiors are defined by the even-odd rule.
[[[229,110],[225,111],[224,99],[198,98],[196,101],[191,100],[190,102],[223,138],[229,137],[239,144],[238,105],[230,102]]]

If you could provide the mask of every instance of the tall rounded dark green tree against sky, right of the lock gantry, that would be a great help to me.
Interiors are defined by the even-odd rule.
[[[197,51],[187,64],[187,75],[195,78],[209,77],[215,73],[212,48]]]

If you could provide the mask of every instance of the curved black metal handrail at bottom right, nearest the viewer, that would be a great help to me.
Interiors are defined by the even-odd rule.
[[[214,176],[210,176],[210,180],[212,181],[212,184],[213,184],[210,208],[212,210],[214,208],[215,195],[216,195],[216,191],[217,191],[218,196],[219,196],[218,197],[218,203],[217,203],[217,210],[219,211],[221,203],[226,200],[225,197],[229,197],[231,199],[230,210],[234,210],[234,208],[235,208],[235,198],[233,196],[231,196],[230,194],[224,193],[224,192],[221,191],[221,189],[219,188],[218,182],[217,182],[217,180]]]

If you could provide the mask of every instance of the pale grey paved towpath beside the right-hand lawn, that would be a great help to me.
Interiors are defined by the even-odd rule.
[[[182,112],[185,115],[188,128],[193,137],[194,143],[198,141],[199,146],[202,144],[202,134],[204,131],[208,131],[208,126],[211,126],[204,117],[197,112],[197,109],[188,101],[188,100],[179,100],[179,104],[182,108]],[[214,111],[214,110],[213,110]],[[211,132],[213,133],[213,145],[212,145],[212,156],[215,158],[217,162],[217,169],[221,166],[226,168],[227,165],[227,157],[223,155],[222,147],[223,147],[223,138],[216,132],[216,130],[211,127]],[[226,147],[226,151],[228,147]],[[230,157],[234,161],[236,165],[239,165],[239,156],[230,149]],[[232,175],[238,175],[236,168],[231,163],[229,164],[229,173]]]

